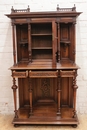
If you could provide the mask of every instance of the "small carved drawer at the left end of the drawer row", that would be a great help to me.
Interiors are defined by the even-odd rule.
[[[28,71],[12,71],[12,77],[26,78],[28,77]]]

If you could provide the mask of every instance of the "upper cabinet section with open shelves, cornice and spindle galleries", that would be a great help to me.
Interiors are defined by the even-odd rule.
[[[14,65],[75,62],[76,7],[56,11],[30,12],[11,9]]]

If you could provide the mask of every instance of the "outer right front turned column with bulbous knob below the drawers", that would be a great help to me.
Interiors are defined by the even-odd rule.
[[[77,77],[77,70],[75,71],[75,76],[73,78],[73,118],[76,117],[76,91],[78,86],[76,85],[76,77]]]

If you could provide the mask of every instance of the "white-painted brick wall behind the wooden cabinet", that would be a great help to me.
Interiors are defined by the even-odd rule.
[[[59,3],[58,3],[59,2]],[[10,9],[23,9],[30,6],[31,11],[52,11],[60,7],[73,7],[83,12],[76,24],[76,63],[78,71],[77,112],[87,113],[87,0],[1,0],[0,1],[0,113],[13,113],[12,78],[9,67],[13,65],[12,30],[10,19],[5,14]]]

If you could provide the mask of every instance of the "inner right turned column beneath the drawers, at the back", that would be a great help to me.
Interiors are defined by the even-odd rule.
[[[61,110],[60,110],[60,95],[61,95],[61,88],[60,88],[60,74],[58,75],[57,80],[57,98],[58,98],[58,104],[57,104],[57,115],[61,116]]]

